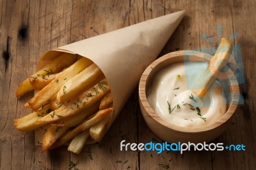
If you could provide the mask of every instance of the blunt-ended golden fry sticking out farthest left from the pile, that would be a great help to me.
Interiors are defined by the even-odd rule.
[[[36,120],[44,117],[49,112],[51,112],[51,109],[49,109],[49,106],[45,105],[45,107],[40,111],[32,112],[31,114],[28,114],[22,118],[13,120],[13,124],[19,131],[29,132],[31,130],[35,130],[38,127],[46,125],[47,123],[36,124]]]

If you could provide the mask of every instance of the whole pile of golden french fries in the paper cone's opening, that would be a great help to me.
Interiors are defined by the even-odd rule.
[[[100,141],[109,125],[113,98],[106,77],[90,59],[63,53],[22,82],[16,96],[38,93],[25,107],[31,114],[13,121],[21,132],[48,125],[42,151],[68,144],[80,153],[88,140]]]

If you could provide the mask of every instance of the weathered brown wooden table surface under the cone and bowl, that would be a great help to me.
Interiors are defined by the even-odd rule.
[[[256,167],[256,2],[236,1],[0,1],[0,169],[255,169]],[[80,155],[67,146],[41,153],[34,132],[22,133],[13,119],[29,112],[29,92],[17,99],[15,90],[35,72],[45,51],[84,38],[186,10],[186,17],[166,43],[161,55],[175,50],[201,50],[218,45],[218,36],[234,35],[240,45],[244,83],[230,128],[214,143],[244,144],[245,151],[120,151],[120,141],[161,141],[147,127],[140,112],[138,89],[101,143],[86,146]],[[219,29],[218,29],[219,27]],[[238,34],[237,34],[238,33]],[[208,35],[207,38],[205,35]],[[211,39],[211,40],[210,40]]]

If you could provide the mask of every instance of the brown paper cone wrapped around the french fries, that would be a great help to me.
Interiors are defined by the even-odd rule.
[[[37,70],[62,52],[91,59],[106,76],[113,95],[110,126],[138,86],[141,74],[157,58],[184,15],[185,11],[171,13],[49,50],[40,57]],[[35,136],[38,143],[41,135],[36,131]]]

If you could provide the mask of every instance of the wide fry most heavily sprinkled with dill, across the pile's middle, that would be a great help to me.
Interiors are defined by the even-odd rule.
[[[42,89],[44,90],[44,89]],[[62,105],[59,109],[56,109],[54,112],[51,112],[37,120],[38,123],[52,123],[68,116],[77,114],[80,111],[83,111],[86,108],[91,107],[95,102],[99,101],[104,95],[110,91],[108,82],[106,79],[98,82],[93,88],[84,91],[77,98],[73,98],[67,104]]]

